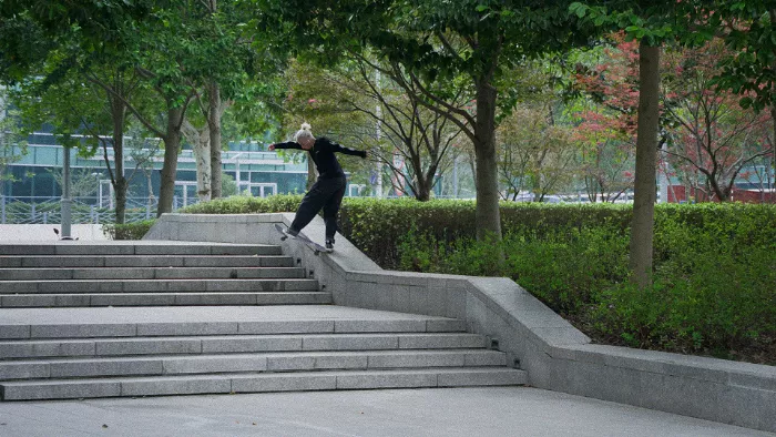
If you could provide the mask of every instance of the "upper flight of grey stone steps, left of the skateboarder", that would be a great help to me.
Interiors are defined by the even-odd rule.
[[[330,303],[295,264],[270,245],[2,245],[0,307]]]

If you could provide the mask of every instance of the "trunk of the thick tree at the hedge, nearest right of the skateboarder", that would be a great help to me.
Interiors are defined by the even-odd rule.
[[[501,241],[499,211],[499,175],[496,155],[497,90],[486,81],[477,83],[477,123],[474,124],[474,155],[477,157],[477,240],[490,236]]]

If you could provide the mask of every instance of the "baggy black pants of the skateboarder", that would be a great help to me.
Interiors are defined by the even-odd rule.
[[[343,203],[345,186],[345,177],[318,179],[310,191],[305,194],[305,199],[302,200],[290,228],[297,232],[302,231],[323,209],[326,240],[334,241],[334,234],[337,232],[337,213]]]

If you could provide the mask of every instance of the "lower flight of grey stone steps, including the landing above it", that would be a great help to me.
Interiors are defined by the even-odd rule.
[[[17,308],[0,321],[3,400],[525,382],[445,317],[278,305]]]

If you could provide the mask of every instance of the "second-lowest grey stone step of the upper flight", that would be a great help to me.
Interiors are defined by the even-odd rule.
[[[306,278],[0,281],[0,291],[3,295],[13,293],[309,292],[317,289],[318,281]]]

